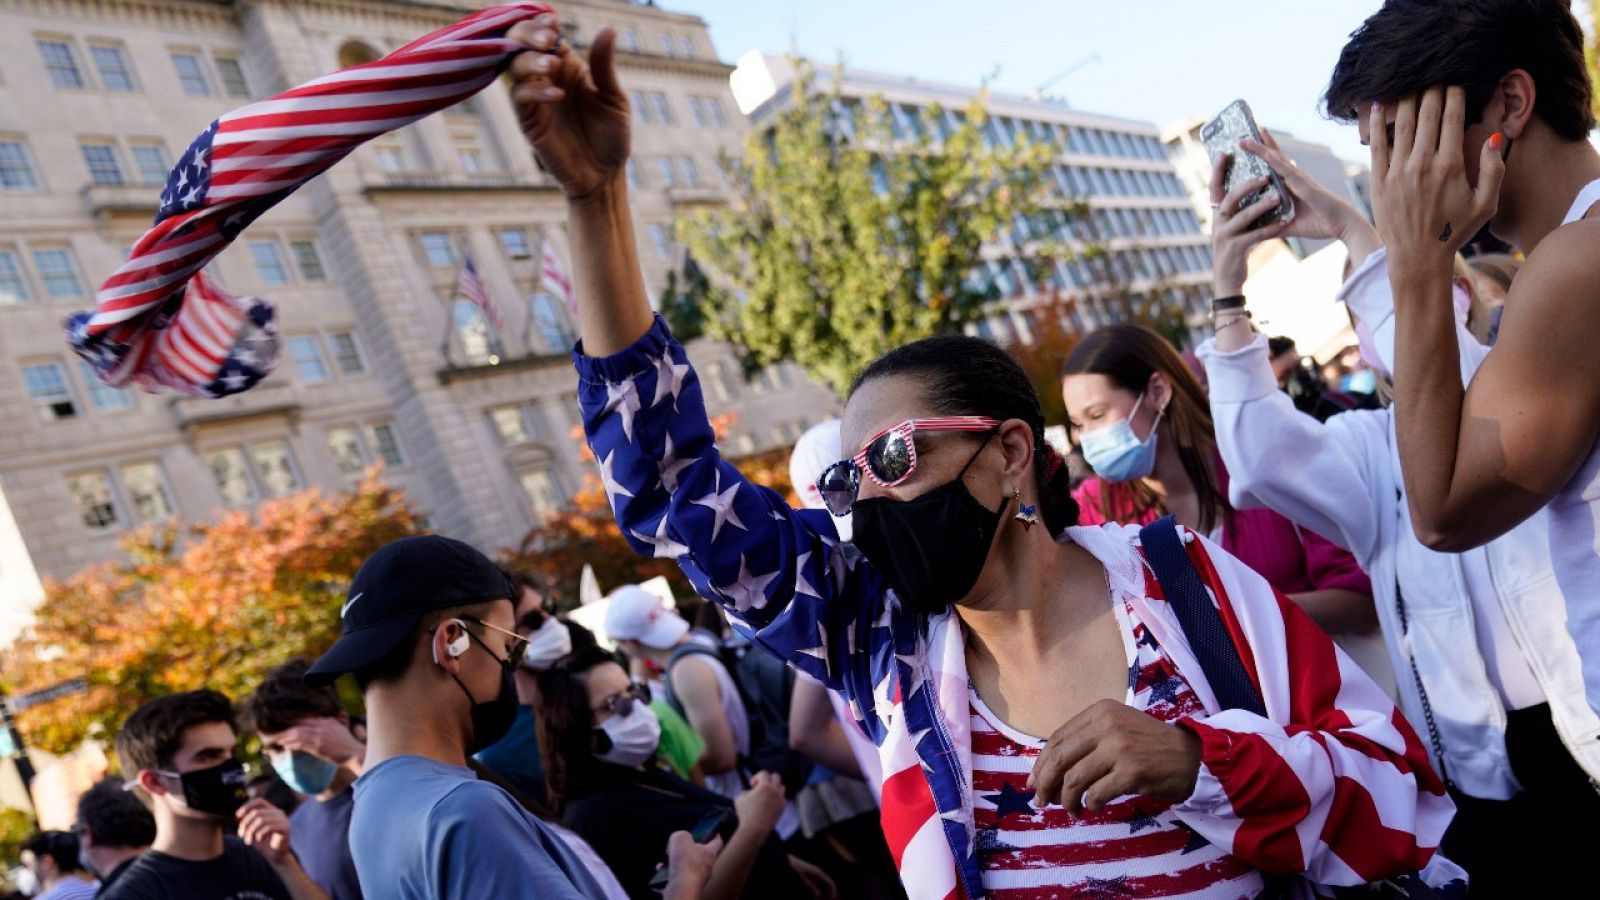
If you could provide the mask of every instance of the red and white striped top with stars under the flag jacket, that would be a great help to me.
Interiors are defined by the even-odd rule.
[[[1205,705],[1155,636],[1122,602],[1126,703],[1163,722],[1203,719]],[[997,900],[1192,897],[1234,900],[1262,890],[1261,873],[1186,826],[1171,804],[1123,796],[1072,818],[1035,809],[1027,775],[1045,741],[1008,727],[970,692],[973,820],[984,892]]]

